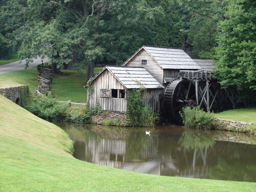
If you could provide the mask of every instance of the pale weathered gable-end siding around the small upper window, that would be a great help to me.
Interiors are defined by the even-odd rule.
[[[147,60],[146,66],[141,66],[141,59]],[[138,52],[125,66],[144,67],[158,82],[163,84],[163,69],[144,49]]]

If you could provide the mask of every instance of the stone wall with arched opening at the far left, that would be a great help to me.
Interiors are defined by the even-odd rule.
[[[29,91],[28,86],[16,86],[16,87],[9,87],[9,88],[0,88],[0,94],[10,99],[11,101],[15,102],[16,104],[20,105],[22,102],[21,96],[25,92]]]

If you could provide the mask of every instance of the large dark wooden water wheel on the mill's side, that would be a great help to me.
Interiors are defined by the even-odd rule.
[[[183,106],[194,105],[195,86],[192,81],[176,79],[168,84],[164,92],[164,113],[168,121],[182,124],[179,115]]]

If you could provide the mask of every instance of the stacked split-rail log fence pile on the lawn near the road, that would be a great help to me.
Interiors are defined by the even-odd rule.
[[[52,66],[50,65],[38,65],[37,66],[37,73],[38,73],[38,81],[39,85],[35,90],[37,95],[42,93],[48,94],[51,91],[51,82],[52,82]]]

